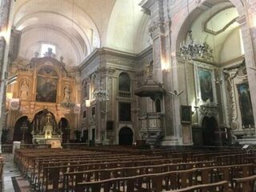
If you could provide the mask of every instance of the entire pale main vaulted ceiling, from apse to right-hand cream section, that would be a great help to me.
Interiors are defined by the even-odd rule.
[[[78,66],[95,48],[136,53],[149,46],[148,15],[140,0],[19,0],[14,6],[13,26],[22,31],[19,56],[40,54],[42,44],[56,46],[56,57]],[[142,30],[138,26],[145,26]],[[137,39],[142,38],[142,41]],[[127,41],[128,39],[128,41]],[[134,45],[135,42],[142,42]]]

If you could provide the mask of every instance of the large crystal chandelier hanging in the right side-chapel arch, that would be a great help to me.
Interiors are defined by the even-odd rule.
[[[180,44],[179,51],[182,54],[182,58],[192,60],[195,58],[202,58],[210,60],[213,58],[213,50],[206,42],[198,43],[192,38],[192,30],[188,32],[188,42]]]

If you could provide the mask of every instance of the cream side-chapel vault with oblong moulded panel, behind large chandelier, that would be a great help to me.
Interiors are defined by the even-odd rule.
[[[237,18],[238,11],[231,2],[226,1],[209,6],[191,22],[193,37],[199,42],[207,42],[210,45],[214,50],[214,62],[216,63],[232,59],[234,53],[231,51],[228,53],[230,56],[226,57],[225,55],[223,58],[223,53],[226,46],[229,46],[232,36],[235,36],[232,43],[237,46],[233,47],[232,51],[237,51],[236,56],[243,54],[240,25]]]

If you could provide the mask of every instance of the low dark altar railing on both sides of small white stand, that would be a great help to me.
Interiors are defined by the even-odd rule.
[[[2,154],[11,154],[13,144],[2,144]],[[21,149],[50,149],[50,144],[21,144]]]

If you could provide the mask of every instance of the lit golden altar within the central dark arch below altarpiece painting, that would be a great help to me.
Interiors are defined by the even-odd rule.
[[[35,119],[32,135],[34,144],[50,144],[51,148],[62,147],[62,132],[53,115],[47,110]]]

